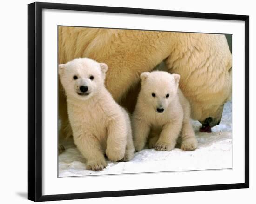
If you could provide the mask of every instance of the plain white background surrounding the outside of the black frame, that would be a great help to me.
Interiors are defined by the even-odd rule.
[[[7,2],[7,1],[6,1]],[[0,51],[1,51],[1,109],[0,120],[2,132],[1,136],[1,165],[0,165],[0,200],[4,203],[26,203],[27,201],[27,3],[32,1],[10,1],[1,5],[1,32],[0,32]],[[48,0],[50,2],[50,0]],[[59,3],[77,3],[102,6],[117,6],[117,7],[141,7],[166,10],[180,11],[195,11],[208,13],[230,13],[230,14],[245,14],[250,15],[250,126],[253,127],[256,121],[253,120],[253,115],[256,109],[252,107],[255,104],[255,95],[253,95],[253,87],[256,82],[253,82],[255,76],[254,59],[252,47],[255,45],[255,40],[252,38],[255,35],[256,14],[253,1],[240,1],[240,3],[229,1],[215,0],[206,1],[164,1],[158,0],[153,2],[138,0],[129,1],[114,1],[114,0],[87,0],[87,1],[57,1]],[[147,2],[147,4],[145,4]],[[251,5],[250,5],[251,4]],[[254,80],[255,81],[255,80]],[[253,150],[253,135],[255,131],[250,130],[250,161],[251,172],[255,171],[255,151]],[[254,160],[254,163],[253,163]],[[59,201],[61,203],[132,203],[132,202],[169,202],[169,203],[224,203],[224,202],[244,202],[255,200],[253,192],[256,191],[256,179],[253,173],[250,175],[251,188],[240,190],[225,190],[225,191],[206,191],[206,192],[189,192],[163,195],[147,195],[133,197],[115,197],[115,198],[99,198],[90,200],[73,200]]]

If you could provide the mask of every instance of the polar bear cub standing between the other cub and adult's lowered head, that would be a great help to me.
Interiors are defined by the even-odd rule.
[[[171,151],[179,138],[182,150],[197,147],[190,106],[179,89],[180,75],[163,71],[141,74],[141,91],[132,117],[134,145]]]

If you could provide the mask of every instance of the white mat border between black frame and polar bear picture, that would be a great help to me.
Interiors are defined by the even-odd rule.
[[[113,13],[44,10],[42,13],[43,45],[43,195],[94,191],[117,191],[175,186],[229,184],[244,182],[244,23],[241,21],[194,20]],[[91,21],[87,21],[90,19]],[[233,46],[233,169],[218,171],[186,171],[154,174],[112,175],[81,178],[57,178],[57,25],[95,26],[131,29],[155,29],[232,33]],[[210,159],[210,158],[209,158]],[[218,159],[217,159],[218,160]],[[217,165],[217,164],[216,164]],[[227,164],[225,164],[227,165]],[[222,167],[220,167],[222,168]],[[182,168],[189,170],[191,167]],[[195,169],[200,169],[198,166]],[[206,167],[207,169],[207,167]],[[164,169],[167,171],[167,169]],[[137,169],[139,171],[139,169]],[[161,168],[155,171],[162,171]],[[120,182],[121,181],[121,182]],[[136,182],[134,182],[136,181]],[[162,182],[164,181],[164,182]],[[101,185],[99,185],[101,183]],[[86,184],[86,185],[85,185]]]

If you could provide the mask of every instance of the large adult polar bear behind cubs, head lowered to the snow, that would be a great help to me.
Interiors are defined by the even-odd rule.
[[[222,34],[59,27],[59,64],[88,57],[108,65],[106,87],[117,102],[126,98],[133,111],[140,74],[162,61],[181,75],[180,88],[191,105],[191,117],[217,125],[230,98],[232,57]],[[137,91],[136,91],[137,90]],[[127,105],[128,104],[128,105]],[[64,92],[59,91],[61,134],[70,134]],[[64,131],[64,132],[63,132]]]

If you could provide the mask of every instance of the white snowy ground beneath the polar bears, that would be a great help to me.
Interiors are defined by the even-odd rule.
[[[198,139],[195,151],[144,149],[129,162],[107,161],[108,166],[97,172],[86,170],[85,159],[71,138],[61,143],[66,150],[59,155],[59,177],[232,168],[232,103],[225,104],[222,121],[212,133],[199,132],[200,126],[193,121]]]

